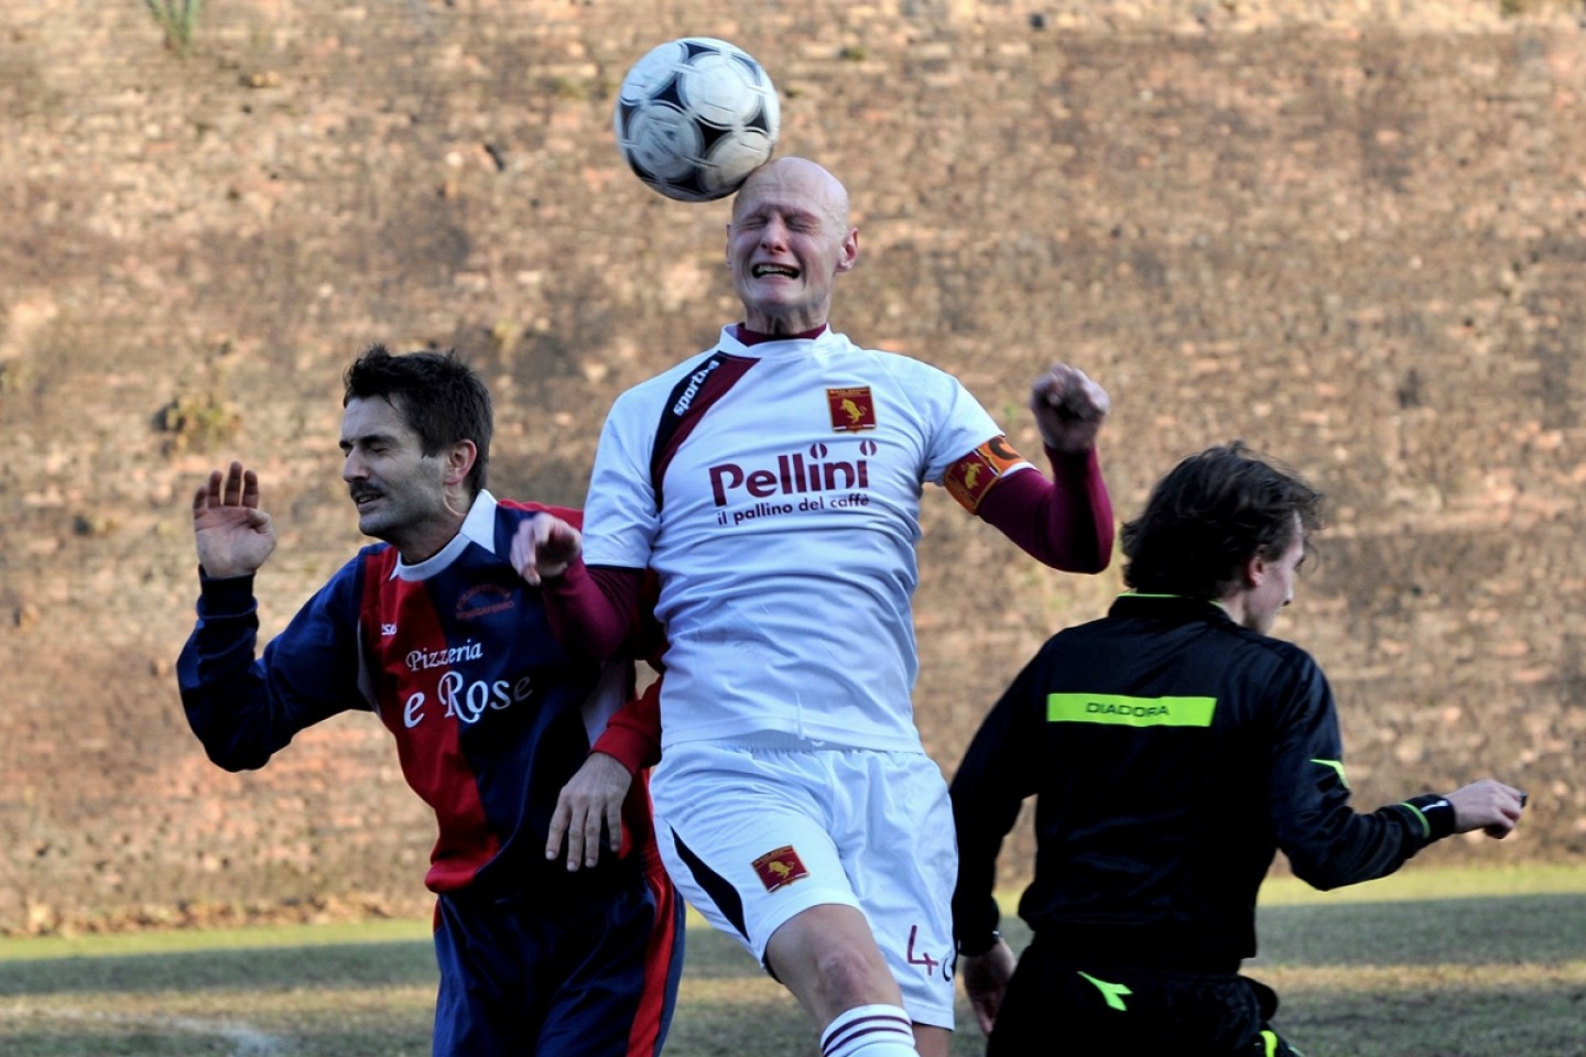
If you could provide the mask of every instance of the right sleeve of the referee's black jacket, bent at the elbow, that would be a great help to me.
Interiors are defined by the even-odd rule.
[[[1386,876],[1432,837],[1416,811],[1350,805],[1332,689],[1307,662],[1280,710],[1270,761],[1272,824],[1294,875],[1318,889]]]

